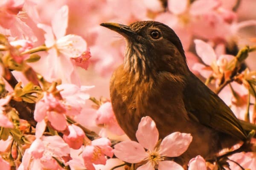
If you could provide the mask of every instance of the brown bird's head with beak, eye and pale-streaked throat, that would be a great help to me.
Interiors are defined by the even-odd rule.
[[[156,21],[138,21],[129,26],[102,23],[125,37],[127,42],[124,68],[141,76],[167,71],[188,73],[186,57],[179,37],[169,26]]]

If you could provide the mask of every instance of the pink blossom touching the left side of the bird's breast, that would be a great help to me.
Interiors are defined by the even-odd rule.
[[[116,121],[116,116],[114,115],[111,102],[105,102],[104,104],[102,104],[96,111],[96,114],[96,124],[104,125],[105,128],[107,128],[116,135],[125,134]],[[101,133],[103,133],[102,130]],[[101,134],[101,136],[104,135]]]

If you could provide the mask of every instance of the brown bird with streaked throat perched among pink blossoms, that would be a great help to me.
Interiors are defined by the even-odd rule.
[[[198,79],[186,64],[175,32],[155,21],[129,26],[102,23],[125,37],[124,63],[111,77],[116,119],[130,139],[143,116],[157,125],[160,138],[191,133],[188,150],[175,160],[183,166],[197,155],[214,158],[225,147],[245,141],[247,133],[230,108]]]

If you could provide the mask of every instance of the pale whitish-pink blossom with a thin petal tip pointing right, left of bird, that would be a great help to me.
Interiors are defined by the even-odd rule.
[[[61,84],[56,88],[60,91],[62,98],[64,99],[63,104],[66,107],[66,114],[69,116],[79,115],[82,108],[86,103],[86,100],[90,98],[87,91],[94,86],[81,87],[74,84]]]

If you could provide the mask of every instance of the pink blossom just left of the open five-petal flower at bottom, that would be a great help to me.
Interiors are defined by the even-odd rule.
[[[95,139],[90,145],[84,147],[82,157],[87,170],[95,170],[93,164],[106,164],[106,156],[112,158],[113,149],[107,138]]]

